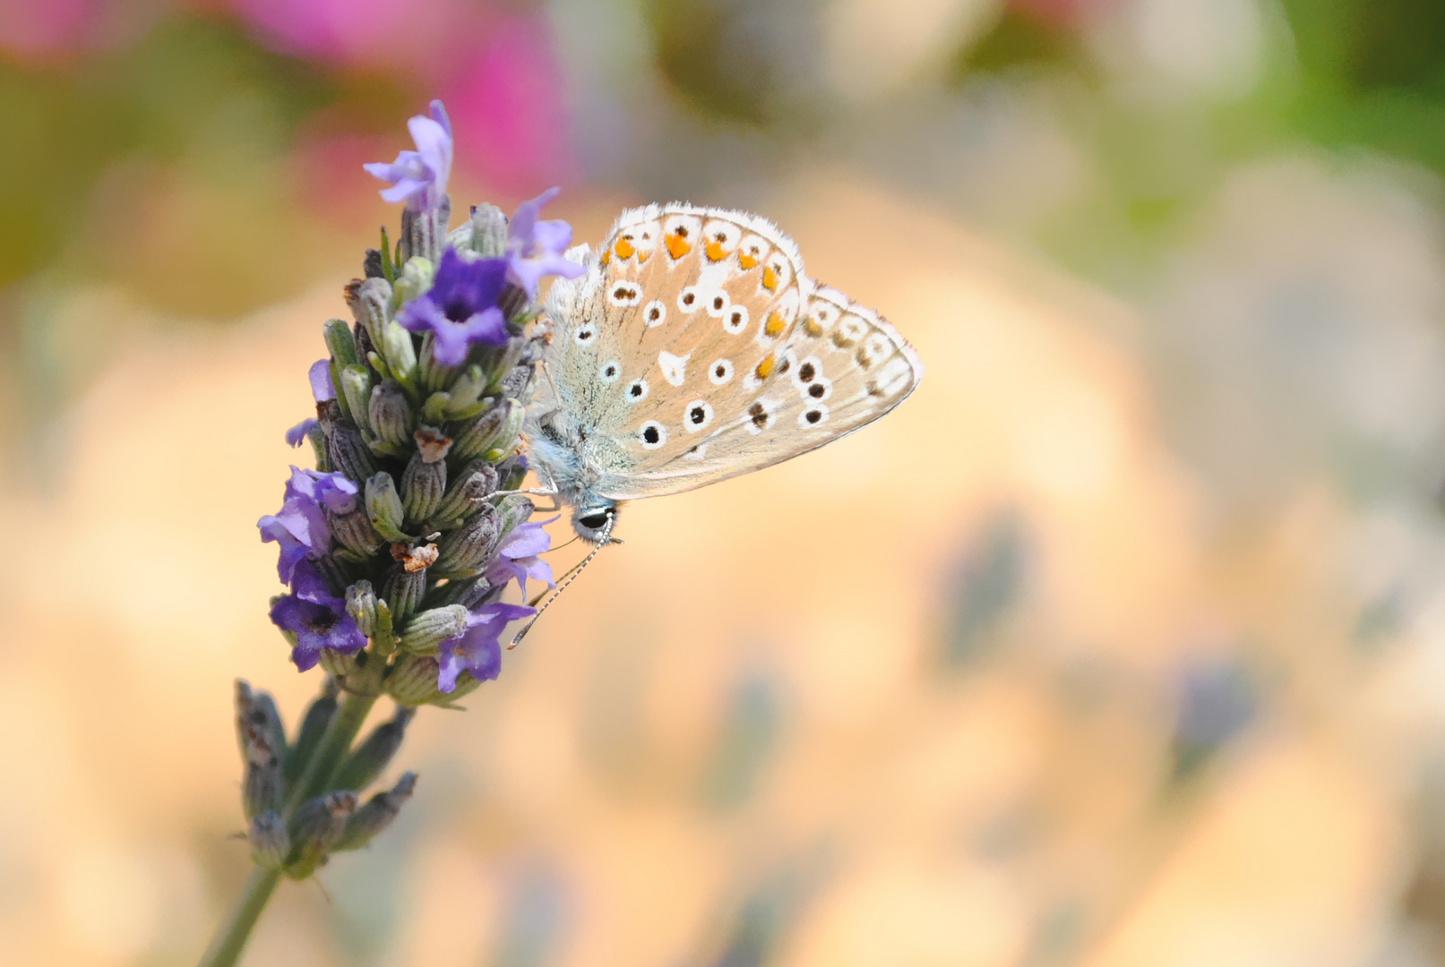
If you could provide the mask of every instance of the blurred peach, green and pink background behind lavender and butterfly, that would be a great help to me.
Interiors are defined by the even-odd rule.
[[[318,686],[254,521],[441,97],[458,208],[760,211],[929,372],[630,507],[246,963],[1445,964],[1442,52],[1435,0],[0,0],[0,958],[189,964],[236,896],[231,680]]]

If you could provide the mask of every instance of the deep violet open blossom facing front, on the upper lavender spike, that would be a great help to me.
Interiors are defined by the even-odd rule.
[[[465,261],[448,248],[431,290],[402,306],[396,320],[410,332],[434,333],[436,362],[455,367],[465,362],[474,342],[487,346],[507,342],[507,325],[497,309],[506,276],[503,258]]]

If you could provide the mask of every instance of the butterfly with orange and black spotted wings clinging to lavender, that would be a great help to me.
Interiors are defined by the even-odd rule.
[[[530,466],[608,541],[623,501],[780,463],[879,419],[923,375],[871,309],[803,271],[764,218],[683,204],[621,214],[546,299]]]

